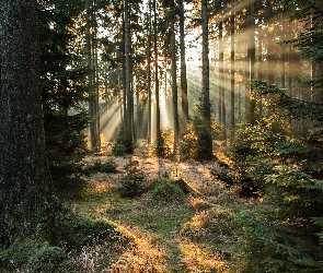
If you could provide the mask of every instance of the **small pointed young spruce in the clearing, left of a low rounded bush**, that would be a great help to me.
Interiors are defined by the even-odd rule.
[[[125,166],[126,176],[120,180],[118,191],[123,198],[139,197],[145,191],[146,174],[139,168],[136,157]]]

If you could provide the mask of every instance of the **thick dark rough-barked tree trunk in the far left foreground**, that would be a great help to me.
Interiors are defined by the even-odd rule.
[[[8,247],[53,216],[36,0],[0,1],[0,239]]]

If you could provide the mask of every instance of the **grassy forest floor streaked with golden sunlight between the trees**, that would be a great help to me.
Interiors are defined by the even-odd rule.
[[[145,143],[134,156],[149,181],[175,171],[192,191],[183,202],[151,202],[149,192],[124,199],[117,188],[131,156],[86,158],[113,159],[118,171],[92,175],[82,198],[71,205],[84,216],[107,221],[127,240],[83,249],[78,258],[82,266],[88,272],[241,272],[246,238],[237,217],[242,211],[270,211],[270,205],[241,198],[237,188],[217,180],[210,173],[219,167],[215,162],[157,158]]]

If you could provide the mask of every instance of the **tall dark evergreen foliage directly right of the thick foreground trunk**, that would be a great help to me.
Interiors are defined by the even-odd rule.
[[[58,195],[72,195],[85,186],[81,176],[88,152],[84,129],[89,117],[83,109],[88,71],[81,66],[81,56],[70,47],[77,34],[69,31],[82,8],[71,0],[38,4],[46,149]]]

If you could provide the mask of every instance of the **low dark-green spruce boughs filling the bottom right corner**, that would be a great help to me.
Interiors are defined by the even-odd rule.
[[[244,247],[247,262],[242,272],[322,272],[322,251],[311,240],[289,234],[282,225],[269,225],[261,217],[242,211],[237,222],[246,237]]]

